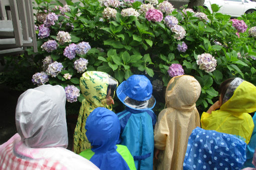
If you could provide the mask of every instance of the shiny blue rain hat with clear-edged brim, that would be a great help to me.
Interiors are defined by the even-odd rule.
[[[152,109],[156,104],[152,91],[152,84],[145,75],[134,74],[117,87],[116,94],[127,107],[147,110]]]

